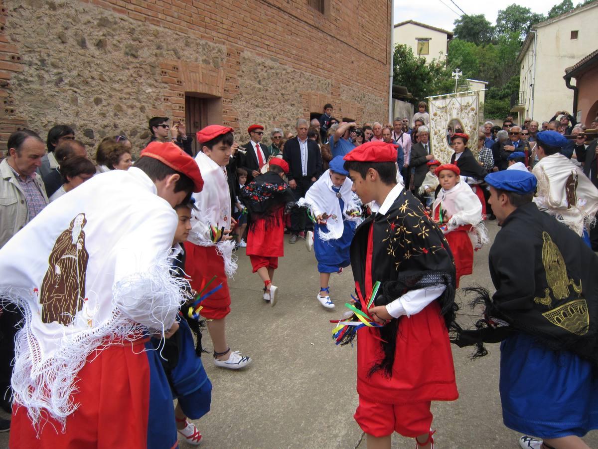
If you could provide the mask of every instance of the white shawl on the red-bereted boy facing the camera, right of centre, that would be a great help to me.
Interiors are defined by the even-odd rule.
[[[459,226],[471,225],[469,238],[474,248],[479,250],[488,240],[486,226],[482,216],[482,205],[480,198],[471,190],[469,184],[459,182],[452,189],[440,189],[432,207],[432,217],[436,216],[438,207],[442,208],[450,216],[444,233],[457,229]]]

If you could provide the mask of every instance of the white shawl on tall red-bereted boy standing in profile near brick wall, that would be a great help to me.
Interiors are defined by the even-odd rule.
[[[191,232],[188,241],[200,246],[215,246],[224,259],[224,271],[232,277],[237,271],[233,257],[234,241],[222,241],[222,229],[230,229],[231,201],[228,179],[224,167],[219,166],[205,153],[195,157],[202,173],[203,189],[194,193],[198,210],[191,211]]]

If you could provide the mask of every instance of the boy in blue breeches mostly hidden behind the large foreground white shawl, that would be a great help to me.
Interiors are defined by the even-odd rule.
[[[187,241],[191,230],[192,208],[192,203],[175,206],[179,221],[170,256],[173,258],[173,274],[182,279],[185,278],[185,251],[182,244]],[[183,295],[187,296],[188,301],[179,313],[179,329],[164,343],[157,338],[152,338],[152,342],[160,353],[173,398],[178,399],[175,407],[176,430],[189,444],[199,445],[202,434],[195,424],[187,421],[187,418],[199,420],[209,412],[210,402],[212,402],[212,383],[200,359],[202,353],[200,325],[203,324],[190,317],[188,313],[190,308],[188,304],[193,299],[194,293],[196,292],[187,284]],[[193,342],[191,326],[187,321],[190,321],[196,333],[197,348]]]

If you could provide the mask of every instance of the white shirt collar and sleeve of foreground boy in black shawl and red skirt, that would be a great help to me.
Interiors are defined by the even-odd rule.
[[[376,201],[372,202],[371,211],[379,214],[386,214],[390,207],[394,204],[395,200],[401,195],[403,186],[396,184],[395,187],[390,190],[386,199],[382,203],[382,206],[378,205]],[[410,317],[416,313],[421,312],[428,304],[442,295],[446,290],[446,286],[438,284],[435,286],[425,287],[424,289],[409,290],[405,295],[395,299],[386,305],[386,311],[393,318],[398,318],[401,315],[407,315]]]

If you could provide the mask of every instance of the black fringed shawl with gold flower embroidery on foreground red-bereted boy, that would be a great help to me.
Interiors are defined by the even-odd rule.
[[[365,296],[365,259],[368,234],[374,223],[372,251],[372,283],[380,281],[375,305],[386,305],[409,290],[442,284],[446,286],[438,298],[441,313],[447,329],[454,323],[457,305],[454,303],[455,268],[453,254],[443,233],[430,219],[411,192],[402,190],[388,213],[373,214],[355,232],[351,243],[351,268],[356,284]],[[355,304],[359,308],[359,304]],[[380,332],[384,358],[370,371],[370,374],[384,369],[392,374],[395,359],[396,335],[399,320],[374,330]],[[347,334],[349,334],[347,332]],[[346,335],[341,344],[347,344],[355,332]]]

